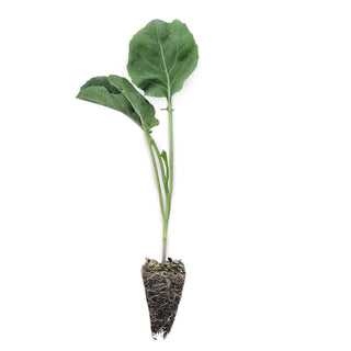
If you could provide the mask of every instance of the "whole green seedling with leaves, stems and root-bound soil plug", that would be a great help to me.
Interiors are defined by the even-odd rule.
[[[132,82],[111,75],[88,80],[77,95],[127,115],[146,137],[155,171],[160,211],[162,215],[162,256],[160,263],[147,259],[141,268],[146,299],[149,308],[152,337],[163,338],[170,332],[185,280],[181,260],[167,258],[167,234],[173,193],[173,105],[172,97],[183,87],[185,79],[197,66],[197,45],[186,25],[178,20],[167,23],[149,22],[129,43],[127,70]],[[159,124],[155,107],[139,93],[166,98],[169,148],[160,151],[151,136]]]

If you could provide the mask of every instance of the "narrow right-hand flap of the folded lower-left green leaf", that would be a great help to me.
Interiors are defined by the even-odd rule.
[[[154,106],[132,86],[132,83],[118,76],[109,76],[109,82],[121,91],[135,112],[139,115],[141,125],[148,131],[158,125],[158,120],[155,118]]]

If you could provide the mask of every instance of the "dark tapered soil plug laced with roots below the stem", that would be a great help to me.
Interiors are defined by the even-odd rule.
[[[156,339],[171,331],[182,296],[185,269],[180,260],[168,259],[165,264],[146,259],[141,268],[145,294],[149,307],[151,332]]]

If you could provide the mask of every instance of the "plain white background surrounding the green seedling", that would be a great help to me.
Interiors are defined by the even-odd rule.
[[[0,350],[351,349],[350,1],[7,1],[0,9]],[[75,99],[126,76],[152,19],[199,67],[174,95],[168,340],[140,276],[161,254],[137,126]],[[167,148],[166,102],[155,129]]]

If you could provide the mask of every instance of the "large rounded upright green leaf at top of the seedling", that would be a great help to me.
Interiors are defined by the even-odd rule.
[[[149,22],[129,43],[128,73],[147,95],[171,98],[197,65],[197,45],[178,20]]]

